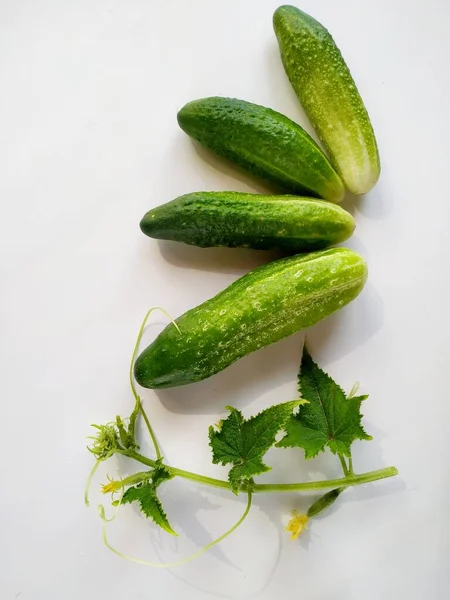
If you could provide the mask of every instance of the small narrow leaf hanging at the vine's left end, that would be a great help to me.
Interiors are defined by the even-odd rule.
[[[172,479],[172,475],[165,467],[156,467],[151,474],[151,479],[126,490],[122,496],[122,504],[137,502],[145,517],[152,519],[156,525],[159,525],[167,533],[178,535],[170,526],[161,501],[156,494],[157,487],[169,479]]]

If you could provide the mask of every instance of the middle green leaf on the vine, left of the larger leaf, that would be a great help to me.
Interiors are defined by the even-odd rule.
[[[244,419],[241,411],[227,406],[230,415],[219,423],[217,429],[209,428],[213,463],[232,465],[228,480],[235,494],[245,481],[270,471],[271,467],[264,464],[262,458],[300,404],[301,400],[294,400],[271,406],[248,420]]]

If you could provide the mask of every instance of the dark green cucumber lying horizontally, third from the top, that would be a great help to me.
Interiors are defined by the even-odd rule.
[[[299,196],[195,192],[150,210],[141,230],[156,239],[203,248],[318,250],[343,242],[355,228],[340,206]]]

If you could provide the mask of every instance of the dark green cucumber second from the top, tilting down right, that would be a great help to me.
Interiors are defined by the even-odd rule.
[[[282,192],[341,202],[344,184],[300,125],[264,106],[234,98],[186,104],[178,124],[192,138]]]

